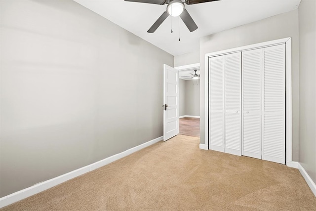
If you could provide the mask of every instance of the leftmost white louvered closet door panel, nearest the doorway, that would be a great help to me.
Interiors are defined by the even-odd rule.
[[[209,58],[209,149],[224,152],[224,56]]]

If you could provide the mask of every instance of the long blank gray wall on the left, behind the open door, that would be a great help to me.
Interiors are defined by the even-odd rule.
[[[163,135],[172,55],[74,1],[0,3],[0,197]]]

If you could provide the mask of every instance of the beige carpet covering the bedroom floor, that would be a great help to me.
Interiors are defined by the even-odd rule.
[[[178,135],[1,211],[301,211],[316,198],[297,169],[198,149]]]

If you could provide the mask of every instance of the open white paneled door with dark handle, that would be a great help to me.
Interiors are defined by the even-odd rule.
[[[163,65],[163,141],[179,134],[179,71]]]

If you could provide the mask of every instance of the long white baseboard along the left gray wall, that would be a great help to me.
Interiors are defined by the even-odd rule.
[[[20,190],[18,192],[15,192],[15,193],[12,193],[10,195],[7,195],[7,196],[4,196],[2,198],[0,198],[0,208],[3,208],[7,205],[10,205],[14,202],[17,202],[17,201],[20,201],[22,199],[25,199],[27,197],[30,197],[34,194],[37,194],[37,193],[40,193],[44,190],[47,190],[53,186],[56,186],[60,183],[63,183],[69,179],[72,179],[72,178],[75,178],[79,175],[82,175],[84,173],[87,173],[89,171],[92,171],[94,169],[98,169],[100,167],[103,167],[107,164],[110,164],[120,158],[123,158],[125,156],[128,156],[134,152],[137,152],[138,150],[141,150],[145,147],[148,147],[150,145],[153,145],[155,143],[157,143],[158,141],[161,141],[163,140],[163,136],[160,136],[158,138],[155,138],[151,141],[148,141],[146,143],[143,143],[141,145],[138,145],[136,147],[133,147],[131,149],[128,149],[124,152],[121,152],[121,153],[118,153],[116,155],[113,155],[111,157],[108,157],[108,158],[105,158],[101,161],[98,161],[98,162],[95,162],[93,164],[90,164],[88,166],[85,166],[85,167],[82,167],[80,169],[76,169],[76,170],[73,170],[71,172],[68,172],[68,173],[65,173],[63,175],[60,175],[60,176],[57,176],[55,178],[52,178],[52,179],[49,179],[49,180],[46,180],[46,181],[43,181],[43,182],[40,182],[38,184],[35,184],[31,187],[28,187],[28,188],[25,188],[23,190]]]

